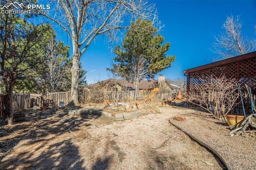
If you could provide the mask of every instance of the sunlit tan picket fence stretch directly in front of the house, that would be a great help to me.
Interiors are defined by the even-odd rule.
[[[177,90],[171,91],[138,91],[136,94],[136,99],[151,99],[151,101],[162,101],[165,99],[173,99],[177,97]],[[132,102],[134,101],[135,91],[116,91],[115,93],[111,93],[106,95],[106,100],[108,101],[116,101],[118,102]]]

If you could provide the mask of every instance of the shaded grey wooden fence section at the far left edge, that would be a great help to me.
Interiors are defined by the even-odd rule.
[[[14,93],[12,100],[14,115],[30,107],[30,93]],[[0,118],[7,116],[7,96],[0,95]]]

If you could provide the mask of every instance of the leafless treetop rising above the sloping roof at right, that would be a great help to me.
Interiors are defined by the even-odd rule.
[[[242,22],[239,17],[228,16],[222,26],[224,32],[215,37],[214,49],[211,50],[218,54],[218,57],[214,58],[214,61],[228,59],[255,50],[256,41],[242,35]]]

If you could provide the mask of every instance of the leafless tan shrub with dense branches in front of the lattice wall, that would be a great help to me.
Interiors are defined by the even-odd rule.
[[[216,119],[224,121],[225,115],[238,104],[237,81],[224,75],[211,75],[199,78],[198,82],[198,85],[187,93],[187,101],[206,109]]]

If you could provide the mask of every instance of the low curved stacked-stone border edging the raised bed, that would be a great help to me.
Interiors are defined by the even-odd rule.
[[[160,113],[159,108],[155,107],[154,112]],[[106,119],[112,119],[115,121],[124,121],[127,119],[139,117],[143,113],[154,113],[154,112],[152,111],[152,109],[148,109],[148,110],[143,109],[143,110],[138,110],[138,111],[133,111],[133,112],[118,113],[113,117],[111,113],[108,113],[108,112],[102,111],[102,110],[92,110],[92,109],[79,110],[78,109],[78,110],[68,111],[68,115],[81,115],[81,114],[97,113],[97,114],[104,116]]]

